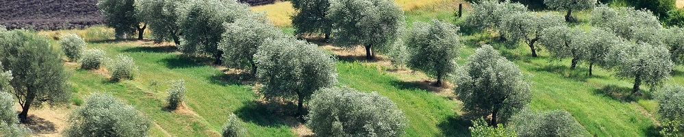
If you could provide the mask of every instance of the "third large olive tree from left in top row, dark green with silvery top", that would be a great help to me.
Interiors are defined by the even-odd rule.
[[[181,9],[182,53],[189,55],[212,55],[214,64],[222,64],[223,51],[218,43],[223,39],[224,23],[233,23],[237,18],[248,18],[249,5],[236,0],[190,1]]]

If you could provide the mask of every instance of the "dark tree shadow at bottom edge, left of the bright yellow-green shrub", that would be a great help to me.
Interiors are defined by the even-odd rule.
[[[468,130],[470,126],[472,126],[470,121],[456,115],[448,116],[446,121],[442,121],[437,125],[437,127],[442,129],[444,136],[470,136],[470,131]]]

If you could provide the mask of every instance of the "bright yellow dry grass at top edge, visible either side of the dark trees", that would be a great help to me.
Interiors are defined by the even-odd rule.
[[[397,5],[400,5],[401,9],[404,11],[415,10],[427,5],[445,1],[453,0],[394,0],[394,2]],[[294,14],[294,9],[292,8],[292,3],[290,3],[290,1],[279,1],[268,5],[258,5],[252,7],[252,10],[255,12],[266,12],[266,16],[273,21],[273,24],[279,27],[290,25],[290,23],[292,23],[290,16]]]

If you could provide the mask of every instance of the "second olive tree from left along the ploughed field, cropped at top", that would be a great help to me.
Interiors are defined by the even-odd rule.
[[[188,0],[136,0],[136,18],[149,25],[155,42],[173,39],[180,45],[181,28],[178,9]]]

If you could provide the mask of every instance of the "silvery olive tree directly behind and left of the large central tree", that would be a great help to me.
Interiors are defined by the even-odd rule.
[[[270,23],[265,16],[257,18],[238,18],[234,23],[225,25],[223,39],[218,43],[218,50],[223,51],[223,62],[236,69],[251,68],[255,74],[257,66],[254,54],[268,38],[283,38],[283,32]]]

